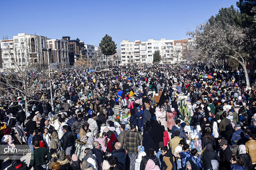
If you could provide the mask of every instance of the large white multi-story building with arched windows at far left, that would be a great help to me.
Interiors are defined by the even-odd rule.
[[[43,50],[47,37],[19,33],[13,39],[1,40],[3,69],[17,70],[19,66],[40,66],[47,62]]]

